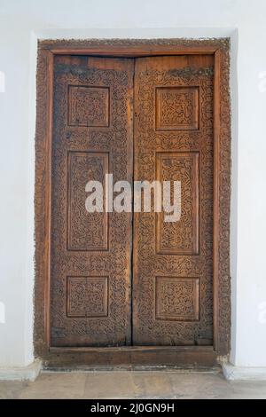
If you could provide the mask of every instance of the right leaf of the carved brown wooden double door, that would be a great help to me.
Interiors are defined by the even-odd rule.
[[[134,217],[133,343],[213,342],[213,65],[210,55],[135,66],[134,179],[181,181],[181,217]]]

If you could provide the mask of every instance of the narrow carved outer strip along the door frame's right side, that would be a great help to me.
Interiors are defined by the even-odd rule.
[[[230,52],[221,51],[220,68],[220,140],[219,140],[219,207],[217,237],[217,346],[220,354],[230,351],[231,276],[230,276],[230,207],[231,207],[231,106]]]

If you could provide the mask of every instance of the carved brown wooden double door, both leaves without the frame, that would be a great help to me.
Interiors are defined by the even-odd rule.
[[[213,59],[56,56],[51,346],[212,345]],[[106,174],[178,181],[180,218],[88,212]]]

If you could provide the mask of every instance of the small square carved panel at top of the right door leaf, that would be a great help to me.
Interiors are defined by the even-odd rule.
[[[157,88],[156,130],[199,130],[199,88]]]

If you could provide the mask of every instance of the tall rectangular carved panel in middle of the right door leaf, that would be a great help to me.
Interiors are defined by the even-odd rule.
[[[159,254],[197,255],[199,253],[199,153],[156,153],[157,179],[181,182],[181,217],[164,222],[156,216],[156,251]]]

